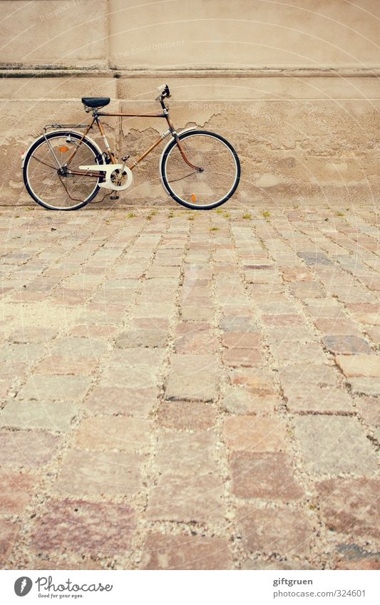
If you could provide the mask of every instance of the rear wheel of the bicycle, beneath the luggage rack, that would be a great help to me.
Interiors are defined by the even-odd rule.
[[[47,141],[47,140],[48,141]],[[58,175],[58,162],[66,163],[81,140],[79,133],[59,131],[36,140],[24,160],[24,183],[29,195],[48,210],[78,210],[86,206],[99,190],[99,180],[81,175]],[[51,148],[53,152],[51,151]],[[88,139],[83,139],[70,162],[71,170],[81,165],[103,164],[103,158]]]

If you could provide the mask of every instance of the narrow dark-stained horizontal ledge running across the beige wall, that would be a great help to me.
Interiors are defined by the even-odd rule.
[[[0,65],[1,78],[379,78],[380,66],[373,68],[62,68],[52,66]]]

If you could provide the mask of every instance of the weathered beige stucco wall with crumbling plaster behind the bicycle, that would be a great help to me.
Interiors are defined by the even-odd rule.
[[[0,1],[1,203],[29,201],[21,153],[46,123],[81,121],[82,95],[155,108],[225,135],[242,160],[235,203],[372,201],[379,193],[378,0]],[[131,156],[160,120],[108,120]],[[171,203],[158,150],[126,203]]]

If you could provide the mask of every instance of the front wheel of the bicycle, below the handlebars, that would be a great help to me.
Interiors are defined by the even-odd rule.
[[[185,162],[173,140],[160,165],[161,179],[169,195],[193,210],[211,210],[227,202],[240,180],[240,161],[232,145],[207,130],[191,130],[179,135],[179,139],[185,156],[202,172]]]

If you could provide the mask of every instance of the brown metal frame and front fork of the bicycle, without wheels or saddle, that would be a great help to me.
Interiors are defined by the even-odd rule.
[[[137,160],[135,160],[134,162],[132,162],[132,164],[130,164],[128,166],[128,168],[130,170],[133,170],[133,168],[135,168],[151,151],[153,151],[153,149],[155,149],[158,145],[160,145],[161,141],[164,140],[164,138],[166,138],[168,135],[173,135],[173,138],[175,139],[175,142],[178,145],[178,149],[180,150],[180,154],[183,157],[183,160],[186,162],[186,164],[188,164],[190,167],[194,168],[195,170],[201,171],[202,168],[199,166],[195,166],[194,164],[192,164],[190,162],[190,160],[188,159],[188,157],[185,154],[185,150],[183,149],[183,146],[180,143],[180,139],[178,138],[178,134],[175,132],[175,128],[173,126],[172,121],[169,118],[169,114],[168,114],[168,110],[166,110],[163,113],[105,113],[105,112],[96,112],[93,114],[93,119],[91,120],[91,123],[88,124],[88,127],[86,128],[85,133],[83,134],[81,140],[79,140],[78,146],[75,150],[73,150],[71,156],[68,158],[67,162],[66,162],[66,167],[68,167],[68,165],[70,164],[71,160],[73,160],[74,155],[76,155],[76,152],[78,150],[78,147],[81,145],[83,139],[86,137],[86,135],[88,134],[89,130],[91,130],[91,128],[93,127],[93,124],[96,123],[96,125],[98,126],[99,132],[101,133],[101,137],[103,138],[103,142],[106,145],[106,150],[111,158],[111,162],[113,164],[116,164],[117,162],[115,161],[115,155],[114,153],[111,151],[111,148],[108,145],[107,142],[107,138],[106,138],[106,134],[104,133],[104,129],[103,129],[103,124],[101,123],[101,120],[99,120],[99,118],[101,116],[111,116],[112,118],[165,118],[165,120],[168,122],[168,127],[169,130],[167,130],[165,133],[163,133],[163,135],[161,135],[152,145],[150,145],[150,148],[148,148],[146,151],[144,151],[138,158]],[[87,176],[90,177],[96,177],[96,178],[100,178],[103,175],[101,173],[98,172],[82,172],[81,170],[70,170],[71,174],[73,175],[83,175],[86,174]]]

